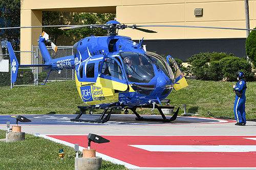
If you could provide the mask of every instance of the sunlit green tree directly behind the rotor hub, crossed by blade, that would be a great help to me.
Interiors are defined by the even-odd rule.
[[[109,20],[114,20],[116,14],[109,14],[109,13],[79,13],[73,16],[77,23],[83,23],[83,25],[90,25],[90,24],[105,24]],[[86,28],[79,28],[74,30],[68,30],[65,32],[65,35],[70,37],[72,35],[75,36],[74,41],[80,40],[81,38],[86,38],[91,35],[95,36],[103,36],[108,33],[107,30],[103,30],[100,28],[90,29]]]

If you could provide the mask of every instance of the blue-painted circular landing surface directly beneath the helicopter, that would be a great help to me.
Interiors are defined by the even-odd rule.
[[[9,121],[10,124],[15,124],[16,115],[0,115],[0,125],[6,125]],[[38,114],[38,115],[23,115],[28,119],[32,120],[30,123],[19,123],[19,125],[63,125],[63,126],[88,126],[88,125],[174,125],[174,124],[212,124],[212,123],[228,123],[228,120],[204,118],[204,117],[184,117],[178,116],[173,122],[162,122],[160,115],[142,115],[146,118],[159,118],[159,121],[146,121],[136,120],[136,115],[133,114],[113,114],[109,122],[104,124],[99,123],[84,123],[84,122],[71,122],[70,119],[74,118],[75,114]],[[83,114],[82,119],[98,119],[100,114]],[[170,118],[171,116],[166,116]]]

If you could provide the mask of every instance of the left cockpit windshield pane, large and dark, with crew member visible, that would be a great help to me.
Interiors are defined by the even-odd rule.
[[[148,83],[155,76],[152,62],[142,54],[120,53],[128,81]]]

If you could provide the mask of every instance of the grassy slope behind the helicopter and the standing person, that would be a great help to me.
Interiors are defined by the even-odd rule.
[[[234,117],[235,94],[232,85],[236,82],[187,80],[188,87],[173,91],[170,105],[181,107],[184,112],[198,113],[208,117],[207,111],[216,116]],[[45,86],[14,87],[0,89],[0,114],[75,114],[77,106],[84,106],[76,89],[75,81],[47,83]],[[246,118],[256,118],[256,82],[248,82],[246,90]],[[101,113],[97,111],[96,113]],[[130,111],[130,113],[132,113]],[[157,109],[144,109],[140,114],[159,114]]]

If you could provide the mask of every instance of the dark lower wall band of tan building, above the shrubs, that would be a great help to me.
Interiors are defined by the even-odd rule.
[[[179,39],[179,40],[143,40],[147,51],[170,55],[186,61],[191,55],[200,52],[226,52],[234,56],[244,57],[246,38],[225,39]]]

